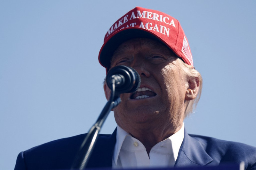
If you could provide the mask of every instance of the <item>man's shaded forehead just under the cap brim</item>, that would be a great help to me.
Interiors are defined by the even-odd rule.
[[[163,43],[149,38],[134,38],[123,42],[113,53],[111,61],[124,53],[133,53],[134,51],[147,50],[148,52],[161,52],[165,55],[176,56],[172,50]]]

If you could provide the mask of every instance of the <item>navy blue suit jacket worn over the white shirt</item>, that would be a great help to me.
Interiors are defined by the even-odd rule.
[[[70,169],[85,135],[55,140],[20,152],[15,170]],[[111,167],[115,143],[116,130],[112,135],[100,135],[87,167]],[[256,148],[185,131],[174,167],[218,166],[242,161],[246,170],[256,170]]]

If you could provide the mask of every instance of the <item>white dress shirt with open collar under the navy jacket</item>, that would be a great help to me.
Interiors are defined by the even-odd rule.
[[[173,167],[183,138],[184,123],[178,132],[153,146],[148,157],[145,146],[117,126],[112,168]]]

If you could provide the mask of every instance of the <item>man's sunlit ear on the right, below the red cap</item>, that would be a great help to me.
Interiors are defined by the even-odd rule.
[[[185,95],[185,100],[193,100],[199,92],[200,81],[197,77],[188,78],[188,88]]]

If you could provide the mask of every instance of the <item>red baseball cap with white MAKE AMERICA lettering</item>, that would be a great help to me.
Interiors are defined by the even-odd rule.
[[[108,30],[99,53],[99,62],[110,67],[116,48],[132,38],[151,38],[164,43],[188,65],[193,65],[187,37],[180,22],[163,12],[135,7],[119,18]]]

